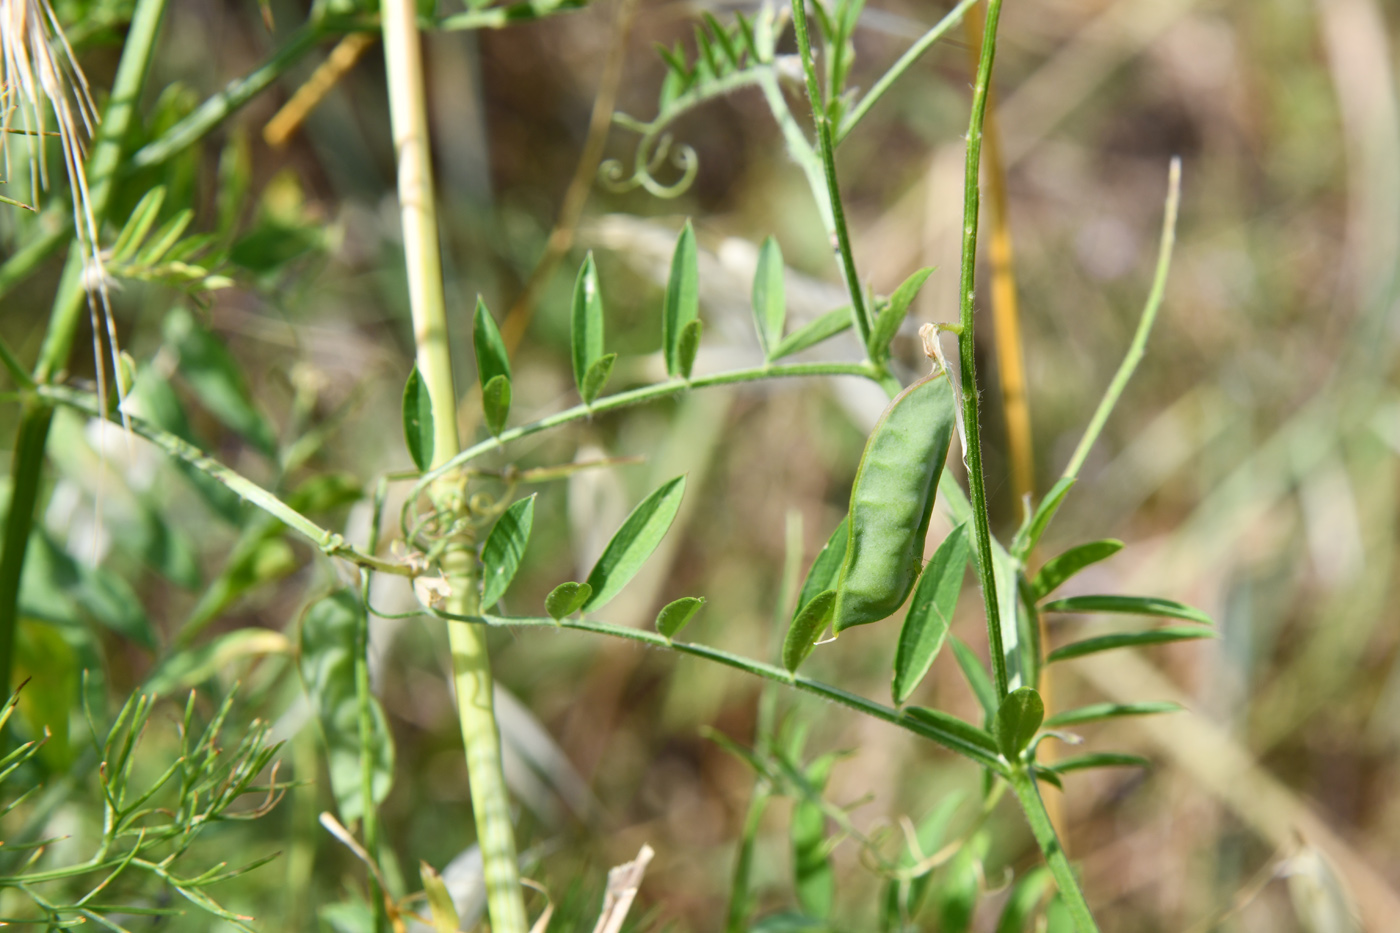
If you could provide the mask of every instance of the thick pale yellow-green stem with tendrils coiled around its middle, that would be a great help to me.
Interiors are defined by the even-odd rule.
[[[447,305],[442,297],[433,168],[428,150],[421,41],[414,0],[385,0],[385,64],[389,77],[389,111],[398,154],[399,210],[403,220],[403,254],[409,273],[409,300],[419,373],[431,399],[434,459],[447,462],[459,448],[456,391],[448,347]],[[451,588],[447,609],[459,615],[480,611],[480,573],[475,528],[466,513],[463,486],[448,478],[430,490],[440,514],[451,516],[445,532],[442,576]],[[510,799],[501,769],[501,737],[493,705],[490,656],[484,629],[448,626],[458,720],[466,748],[466,766],[476,818],[477,845],[486,876],[487,912],[494,933],[525,933],[525,898],[515,855]]]

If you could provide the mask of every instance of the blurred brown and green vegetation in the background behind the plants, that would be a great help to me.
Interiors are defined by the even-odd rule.
[[[790,265],[794,318],[843,303],[811,193],[756,91],[700,108],[675,127],[699,157],[696,181],[678,199],[613,193],[594,182],[592,165],[580,172],[609,56],[622,64],[617,109],[650,119],[664,76],[654,43],[689,48],[700,10],[731,11],[627,3],[598,0],[547,21],[427,42],[456,359],[463,367],[472,359],[468,314],[477,294],[497,318],[510,311],[526,325],[514,361],[518,417],[571,403],[568,294],[584,249],[598,261],[609,349],[623,354],[615,388],[661,374],[661,283],[686,217],[701,245],[707,321],[697,371],[762,361],[748,290],[756,244],[769,234]],[[108,87],[130,4],[56,6],[64,22],[85,24],[70,38],[92,85]],[[942,11],[871,4],[855,36],[855,83],[883,70]],[[305,17],[302,4],[279,0],[172,4],[143,101],[143,139],[255,69]],[[1211,612],[1222,633],[1054,671],[1054,707],[1179,698],[1191,710],[1088,733],[1091,748],[1138,751],[1156,762],[1152,770],[1065,780],[1067,845],[1107,930],[1217,929],[1212,918],[1232,906],[1218,929],[1348,929],[1329,926],[1316,906],[1329,902],[1317,890],[1336,878],[1362,916],[1400,916],[1397,39],[1400,15],[1382,0],[1040,0],[1009,3],[1002,17],[995,120],[1037,495],[1058,476],[1121,359],[1149,284],[1168,161],[1183,158],[1176,261],[1148,357],[1043,548],[1051,555],[1086,537],[1123,538],[1127,548],[1077,588],[1183,600]],[[192,353],[189,328],[207,328],[245,374],[270,438],[286,444],[323,431],[307,464],[283,469],[246,431],[231,430],[199,385],[176,378],[192,437],[283,489],[311,469],[342,472],[344,489],[356,489],[410,466],[399,398],[412,333],[377,43],[283,144],[263,134],[333,45],[318,45],[158,175],[132,177],[112,209],[126,217],[162,184],[161,219],[193,206],[192,228],[227,249],[218,270],[231,287],[188,296],[169,282],[127,283],[116,314],[125,347],[165,373]],[[911,315],[916,326],[956,318],[969,80],[959,29],[839,154],[862,277],[889,293],[918,266],[938,268]],[[631,146],[615,126],[605,154],[627,163]],[[589,186],[574,242],[540,279],[532,308],[518,307],[575,174]],[[17,188],[25,185],[13,181],[7,192],[22,196]],[[42,214],[0,213],[0,249],[13,255],[42,223]],[[50,261],[4,296],[0,332],[24,360],[36,352],[60,266]],[[983,314],[987,478],[1000,531],[1009,534],[1021,503],[1008,475],[990,324]],[[916,345],[913,329],[896,343],[906,375],[920,366]],[[73,374],[91,378],[83,346],[80,339]],[[833,352],[857,356],[854,345],[818,353]],[[459,387],[475,381],[470,368],[458,377]],[[603,454],[644,461],[540,492],[510,608],[536,614],[554,583],[581,579],[571,577],[575,567],[587,572],[633,503],[686,472],[676,525],[606,616],[648,625],[666,601],[703,594],[708,604],[689,637],[771,656],[790,516],[801,520],[808,560],[846,510],[881,406],[871,387],[784,381],[710,389],[517,445],[524,465]],[[13,436],[14,422],[15,409],[0,408],[0,437]],[[255,915],[258,929],[358,929],[364,871],[316,825],[332,797],[293,657],[301,609],[332,584],[332,569],[276,530],[249,531],[246,514],[221,513],[216,497],[157,454],[77,416],[60,416],[50,459],[42,524],[53,560],[74,569],[53,577],[66,583],[46,608],[27,609],[32,619],[21,629],[25,670],[15,679],[36,678],[27,688],[34,699],[21,706],[25,721],[56,733],[34,766],[50,782],[70,769],[81,780],[92,768],[74,705],[80,691],[115,710],[143,685],[176,698],[197,688],[211,713],[241,682],[234,716],[272,721],[273,738],[288,742],[281,776],[314,783],[290,790],[256,822],[218,828],[211,860],[281,852],[225,884],[220,899]],[[363,534],[364,502],[323,482],[311,492],[323,496],[319,514],[330,527]],[[153,517],[157,506],[162,520]],[[164,565],[150,558],[141,528],[164,535]],[[94,555],[102,576],[83,569]],[[84,600],[84,587],[119,590],[119,608]],[[412,605],[388,584],[377,587],[375,602],[384,611]],[[980,602],[965,598],[955,632],[984,653],[979,614]],[[193,630],[192,615],[202,619]],[[63,626],[55,629],[55,619]],[[113,630],[113,619],[127,629]],[[235,630],[256,636],[220,640]],[[188,654],[200,646],[217,650]],[[753,775],[701,730],[749,744],[757,684],[571,633],[500,633],[493,649],[500,686],[518,700],[504,699],[500,712],[521,848],[538,857],[528,874],[556,901],[585,905],[575,916],[588,918],[606,867],[647,842],[657,860],[634,911],[638,929],[721,929]],[[176,651],[195,660],[162,665]],[[883,696],[892,651],[888,629],[862,629],[820,649],[811,672]],[[419,860],[444,870],[473,841],[441,626],[377,621],[371,657],[396,745],[385,866],[391,887],[398,876],[412,890]],[[94,671],[85,688],[77,675],[84,667]],[[56,686],[39,689],[43,682]],[[916,699],[967,717],[976,710],[946,656]],[[36,709],[43,702],[48,712]],[[948,793],[979,792],[974,768],[931,745],[794,693],[776,702],[784,721],[809,730],[809,754],[850,749],[827,797],[851,806],[867,834],[897,832],[900,817],[918,820]],[[179,709],[155,717],[153,762],[174,742]],[[70,734],[57,734],[60,724]],[[94,817],[81,800],[55,799],[46,813],[77,841]],[[755,862],[760,913],[792,904],[788,815],[783,804],[764,817]],[[993,891],[1007,866],[1039,857],[1012,810],[997,811],[994,828]],[[851,842],[833,859],[840,927],[872,929],[878,878]],[[469,866],[463,871],[470,876]],[[976,929],[991,929],[997,898],[987,897]],[[200,916],[182,923],[213,929]]]

